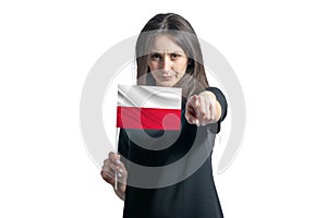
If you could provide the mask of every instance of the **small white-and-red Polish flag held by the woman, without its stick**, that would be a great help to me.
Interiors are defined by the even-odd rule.
[[[118,85],[117,128],[180,130],[182,89]]]

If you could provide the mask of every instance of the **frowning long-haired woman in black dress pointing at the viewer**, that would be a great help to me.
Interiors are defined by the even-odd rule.
[[[109,154],[101,177],[112,186],[118,182],[114,192],[124,201],[124,217],[221,218],[222,211],[213,179],[211,149],[220,122],[227,113],[227,102],[218,88],[208,86],[199,43],[191,24],[173,13],[155,15],[138,36],[136,63],[137,85],[182,88],[182,128],[175,142],[160,150],[138,146],[131,140],[131,135],[137,135],[137,131],[122,129],[119,137],[120,155]],[[162,131],[146,133],[154,138],[165,134]],[[194,161],[192,157],[202,158]],[[183,174],[182,180],[158,187],[130,185],[129,181],[137,172],[129,168],[128,161],[147,167],[165,167],[181,158],[185,159],[184,165],[178,169]],[[197,166],[192,173],[189,173],[190,166]]]

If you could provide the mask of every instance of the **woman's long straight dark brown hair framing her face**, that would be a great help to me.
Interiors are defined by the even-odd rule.
[[[174,13],[155,15],[141,31],[136,41],[137,85],[155,84],[148,68],[148,55],[158,34],[170,36],[184,50],[189,59],[185,74],[174,85],[183,89],[183,97],[189,98],[208,87],[197,36],[191,24]]]

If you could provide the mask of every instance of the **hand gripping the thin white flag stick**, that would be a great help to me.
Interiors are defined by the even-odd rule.
[[[117,173],[117,174],[116,174]],[[126,190],[128,171],[125,166],[120,161],[120,155],[110,152],[109,157],[104,161],[101,170],[102,179],[112,185],[116,194],[124,201]],[[114,189],[117,179],[117,189]]]

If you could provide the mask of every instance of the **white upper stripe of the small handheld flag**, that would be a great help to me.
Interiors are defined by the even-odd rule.
[[[118,106],[181,109],[181,88],[118,85]]]

